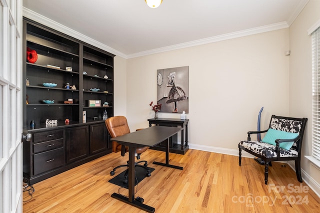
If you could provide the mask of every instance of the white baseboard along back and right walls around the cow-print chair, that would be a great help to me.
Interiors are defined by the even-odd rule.
[[[209,151],[209,152],[215,152],[215,153],[221,153],[221,154],[229,154],[238,156],[239,150],[238,149],[231,149],[231,148],[221,148],[221,147],[214,147],[214,146],[208,146],[208,145],[198,145],[198,144],[192,144],[188,143],[190,149],[196,149],[201,151]],[[254,158],[254,156],[246,151],[241,152],[242,157],[250,157]],[[281,161],[279,161],[281,162]],[[286,161],[283,161],[283,163],[286,163]],[[288,161],[287,164],[295,171],[294,161]],[[320,197],[320,184],[316,182],[309,174],[307,174],[302,168],[301,168],[301,176],[302,180],[305,184],[307,184],[318,197]]]

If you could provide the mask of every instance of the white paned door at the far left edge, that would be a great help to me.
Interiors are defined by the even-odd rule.
[[[0,212],[22,212],[22,0],[0,0]]]

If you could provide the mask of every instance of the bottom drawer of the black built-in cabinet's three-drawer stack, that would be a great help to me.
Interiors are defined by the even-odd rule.
[[[64,165],[63,147],[33,155],[34,175]]]

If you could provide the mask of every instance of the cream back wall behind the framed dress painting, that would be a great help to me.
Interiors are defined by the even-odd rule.
[[[256,129],[261,106],[264,129],[271,114],[289,115],[288,49],[286,28],[127,59],[131,130],[148,126],[153,116],[148,104],[156,100],[156,70],[188,65],[190,147],[237,154],[238,141]]]

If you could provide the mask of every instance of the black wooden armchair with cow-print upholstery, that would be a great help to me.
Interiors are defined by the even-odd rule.
[[[300,158],[301,158],[301,144],[303,139],[303,132],[306,125],[307,118],[294,118],[272,115],[270,119],[269,128],[262,131],[248,131],[247,140],[239,142],[239,165],[241,165],[241,150],[244,150],[256,157],[264,160],[264,183],[268,181],[268,165],[271,161],[279,160],[294,160],[295,173],[299,182],[302,182]],[[270,131],[283,132],[285,134],[292,134],[294,138],[283,139],[274,137],[274,144],[264,142],[266,134]],[[267,132],[261,141],[251,140],[251,134]],[[291,142],[291,147],[288,149],[282,148],[281,143],[287,144]]]

